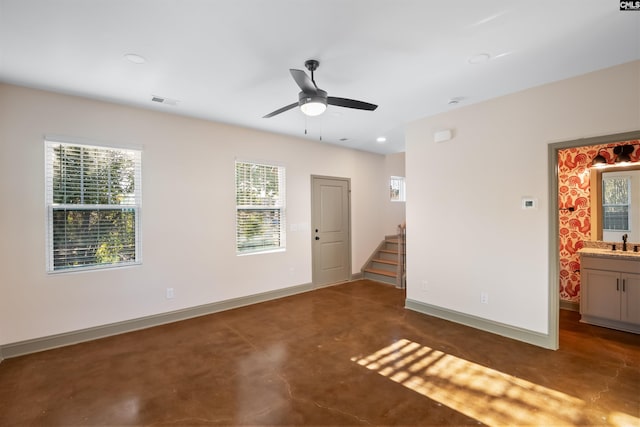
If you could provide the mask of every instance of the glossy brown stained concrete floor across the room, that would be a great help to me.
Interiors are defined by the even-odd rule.
[[[550,351],[357,281],[0,363],[0,425],[640,425],[640,336]]]

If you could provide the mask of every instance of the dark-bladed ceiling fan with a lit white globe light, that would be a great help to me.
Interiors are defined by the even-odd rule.
[[[307,70],[311,71],[311,78],[302,70],[290,69],[291,76],[296,81],[302,91],[298,94],[298,102],[294,102],[285,107],[282,107],[276,111],[273,111],[264,119],[273,117],[280,113],[284,113],[294,107],[300,106],[300,110],[307,116],[318,116],[324,113],[327,109],[327,105],[336,105],[338,107],[355,108],[356,110],[373,111],[378,108],[375,104],[369,104],[368,102],[356,101],[355,99],[337,98],[335,96],[327,96],[327,92],[318,88],[316,81],[313,78],[313,72],[318,69],[320,62],[315,59],[309,59],[304,63]]]

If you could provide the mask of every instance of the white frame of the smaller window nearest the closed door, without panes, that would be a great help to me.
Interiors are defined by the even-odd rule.
[[[249,167],[265,167],[265,168],[277,168],[277,179],[278,179],[278,197],[273,204],[240,204],[238,199],[239,181],[238,181],[238,165],[244,164],[249,165]],[[263,189],[266,193],[266,188]],[[234,162],[234,195],[235,195],[235,251],[237,256],[246,256],[246,255],[256,255],[256,254],[264,254],[264,253],[272,253],[272,252],[284,252],[286,251],[286,168],[284,165],[268,162],[268,161],[254,161],[254,160],[246,160],[246,159],[236,159]],[[253,249],[241,248],[241,221],[240,221],[240,212],[246,211],[272,211],[278,212],[278,231],[277,231],[277,240],[278,244],[268,245],[268,246],[260,246],[255,247]],[[267,229],[266,233],[269,231],[273,231],[273,229]],[[265,234],[261,234],[261,236],[265,236]],[[268,240],[268,238],[264,238],[263,240]]]

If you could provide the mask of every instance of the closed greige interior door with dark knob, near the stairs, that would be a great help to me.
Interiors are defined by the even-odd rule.
[[[313,284],[351,279],[350,182],[311,177]]]

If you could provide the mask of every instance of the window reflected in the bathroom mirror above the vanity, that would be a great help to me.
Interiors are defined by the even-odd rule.
[[[631,180],[628,176],[602,179],[602,228],[607,231],[629,231]]]

